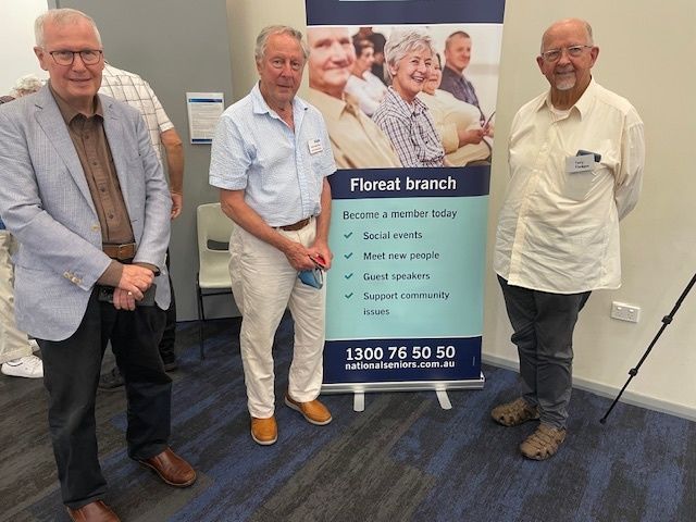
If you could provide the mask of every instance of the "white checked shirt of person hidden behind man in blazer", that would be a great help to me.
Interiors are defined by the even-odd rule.
[[[148,125],[150,141],[154,147],[157,159],[161,163],[162,141],[160,140],[160,134],[174,128],[174,124],[170,121],[164,109],[162,109],[162,104],[150,84],[137,74],[105,64],[99,92],[123,101],[140,111],[140,114],[145,117],[145,123]]]

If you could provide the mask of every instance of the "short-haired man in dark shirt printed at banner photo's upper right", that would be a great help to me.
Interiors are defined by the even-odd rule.
[[[464,69],[471,61],[471,36],[463,30],[457,30],[445,40],[445,67],[443,67],[443,80],[439,88],[451,94],[455,98],[474,105],[478,109],[481,124],[486,116],[481,110],[476,89],[464,77]],[[492,133],[489,133],[492,134]]]

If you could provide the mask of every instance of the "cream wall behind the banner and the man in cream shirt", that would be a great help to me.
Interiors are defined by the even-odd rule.
[[[533,9],[532,9],[533,8]],[[234,92],[245,96],[257,79],[253,39],[268,24],[306,27],[303,0],[227,0]],[[636,210],[622,223],[623,287],[596,291],[575,334],[576,385],[614,394],[661,326],[696,269],[696,98],[691,63],[696,55],[693,0],[508,0],[497,101],[490,186],[488,259],[508,179],[510,122],[525,101],[547,88],[535,57],[544,29],[555,20],[587,18],[601,51],[595,77],[629,98],[646,126],[647,165]],[[612,300],[642,308],[641,322],[609,318]],[[696,419],[696,290],[666,330],[629,391],[627,401]],[[486,279],[484,357],[514,366],[510,326],[492,270]]]

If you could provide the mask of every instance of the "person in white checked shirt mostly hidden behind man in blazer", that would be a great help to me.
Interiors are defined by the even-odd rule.
[[[184,145],[174,128],[174,124],[164,112],[160,100],[150,84],[140,76],[116,69],[109,63],[104,64],[99,92],[123,101],[136,108],[142,114],[150,133],[152,147],[160,163],[162,163],[162,148],[164,148],[166,172],[170,177],[170,195],[172,197],[172,220],[175,220],[184,208]],[[169,249],[166,251],[166,268],[170,268]],[[178,363],[174,350],[176,341],[176,301],[174,299],[171,274],[169,277],[172,301],[166,310],[166,325],[164,326],[159,349],[164,370],[171,372],[178,368]],[[111,371],[102,374],[99,380],[99,387],[113,389],[119,386],[123,386],[123,375],[119,372],[119,366],[114,365]]]

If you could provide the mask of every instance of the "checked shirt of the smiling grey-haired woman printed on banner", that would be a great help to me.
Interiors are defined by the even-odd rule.
[[[389,87],[372,119],[391,140],[403,166],[443,166],[445,149],[421,100],[415,98],[409,105]]]

